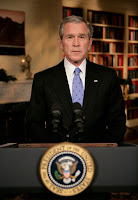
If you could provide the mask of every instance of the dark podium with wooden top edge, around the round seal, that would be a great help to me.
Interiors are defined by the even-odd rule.
[[[6,144],[0,146],[1,192],[48,192],[39,166],[45,151],[54,144]],[[137,192],[138,146],[134,144],[79,144],[95,162],[89,192]]]

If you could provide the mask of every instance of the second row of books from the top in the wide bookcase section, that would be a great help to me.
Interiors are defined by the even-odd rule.
[[[123,40],[123,28],[100,27],[93,25],[93,38]]]

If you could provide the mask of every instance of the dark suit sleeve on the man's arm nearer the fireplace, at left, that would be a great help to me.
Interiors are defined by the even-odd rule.
[[[27,112],[27,133],[32,142],[45,140],[45,113],[42,80],[37,74],[34,76],[30,105]]]

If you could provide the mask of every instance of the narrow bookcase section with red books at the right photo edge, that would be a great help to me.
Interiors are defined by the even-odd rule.
[[[128,16],[128,78],[138,93],[138,16]]]

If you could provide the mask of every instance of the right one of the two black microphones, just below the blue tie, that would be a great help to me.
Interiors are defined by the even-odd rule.
[[[73,103],[73,117],[78,133],[84,133],[84,121],[82,107],[78,102]]]

